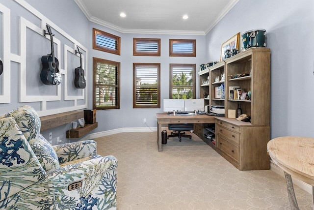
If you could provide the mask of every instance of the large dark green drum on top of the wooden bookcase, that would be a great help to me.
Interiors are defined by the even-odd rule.
[[[248,30],[242,35],[242,50],[250,47],[266,48],[266,30]]]

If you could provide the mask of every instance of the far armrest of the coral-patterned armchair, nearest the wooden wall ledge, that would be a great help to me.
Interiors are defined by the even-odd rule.
[[[55,145],[53,149],[57,153],[59,163],[65,163],[97,154],[97,143],[94,140],[86,140],[62,145]]]

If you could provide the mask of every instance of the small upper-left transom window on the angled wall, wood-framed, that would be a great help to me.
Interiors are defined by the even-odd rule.
[[[120,37],[93,29],[93,49],[120,55]]]

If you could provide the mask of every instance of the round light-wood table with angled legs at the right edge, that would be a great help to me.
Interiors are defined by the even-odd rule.
[[[291,209],[299,210],[291,176],[311,184],[314,195],[314,138],[278,137],[268,142],[267,151],[271,159],[285,172]],[[314,210],[313,196],[312,209]]]

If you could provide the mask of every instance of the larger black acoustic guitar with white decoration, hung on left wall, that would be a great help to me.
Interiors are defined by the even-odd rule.
[[[61,83],[61,74],[59,72],[58,66],[59,61],[57,58],[54,57],[54,50],[53,50],[53,36],[50,26],[47,25],[48,33],[44,30],[44,35],[50,35],[50,42],[51,42],[51,54],[47,56],[41,57],[41,62],[43,64],[43,68],[40,72],[40,79],[45,85],[59,85]]]

